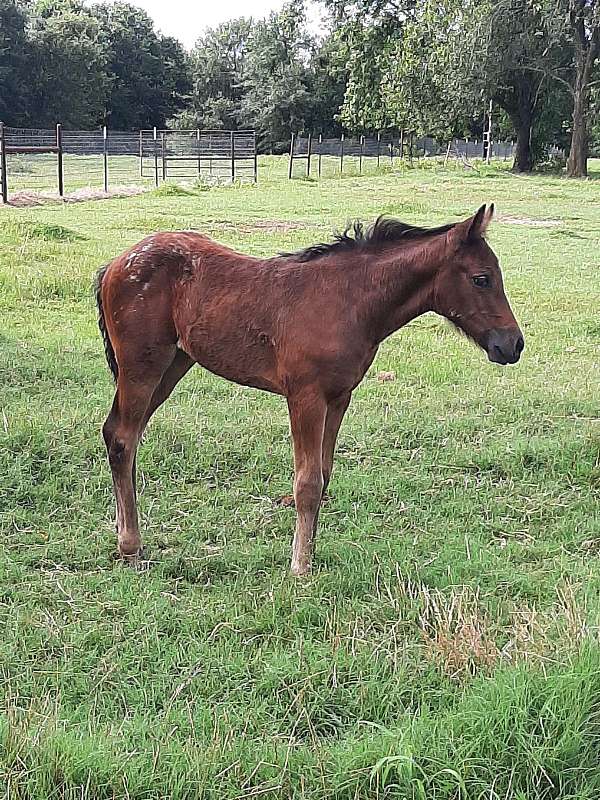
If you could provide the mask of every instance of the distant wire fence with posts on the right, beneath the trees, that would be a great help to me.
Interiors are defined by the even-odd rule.
[[[489,150],[489,154],[488,154]],[[292,134],[289,155],[288,177],[294,174],[294,163],[306,163],[306,176],[310,177],[314,171],[314,161],[316,160],[316,170],[319,177],[323,171],[323,157],[333,157],[339,162],[338,171],[343,173],[344,165],[348,159],[353,159],[353,164],[359,172],[363,170],[366,159],[376,161],[377,166],[388,163],[393,164],[395,158],[407,158],[410,161],[418,158],[443,157],[449,158],[485,158],[490,160],[503,159],[507,161],[512,158],[515,152],[513,142],[492,142],[491,146],[487,141],[453,139],[451,142],[441,143],[431,136],[415,136],[411,132],[401,131],[398,136],[391,136],[378,133],[377,136],[360,136],[358,138],[346,138],[343,134],[339,139],[323,139],[322,136],[298,136]]]

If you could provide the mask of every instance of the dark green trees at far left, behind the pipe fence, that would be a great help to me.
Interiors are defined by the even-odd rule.
[[[127,3],[0,0],[0,119],[164,126],[190,89],[185,52]]]

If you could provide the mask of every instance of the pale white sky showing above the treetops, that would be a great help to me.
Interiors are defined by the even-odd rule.
[[[175,36],[186,47],[194,46],[206,28],[236,17],[266,17],[279,11],[284,0],[129,0],[143,8],[167,36]],[[311,3],[307,9],[311,29],[318,30],[322,10]]]

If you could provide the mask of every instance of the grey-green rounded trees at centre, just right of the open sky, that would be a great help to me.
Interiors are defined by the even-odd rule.
[[[307,34],[302,3],[265,20],[224,23],[198,40],[191,102],[170,124],[255,128],[267,151],[286,149],[291,131],[339,133],[344,53],[341,38],[317,42]]]

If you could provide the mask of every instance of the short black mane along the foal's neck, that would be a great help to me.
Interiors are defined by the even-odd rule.
[[[451,222],[437,228],[420,228],[409,225],[393,217],[384,215],[377,217],[372,225],[365,228],[362,222],[354,220],[342,233],[334,234],[332,242],[319,242],[295,253],[281,253],[283,257],[293,257],[297,261],[313,261],[330,253],[348,252],[352,250],[369,251],[377,246],[392,242],[403,242],[412,239],[425,239],[447,233],[455,225]]]

